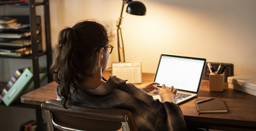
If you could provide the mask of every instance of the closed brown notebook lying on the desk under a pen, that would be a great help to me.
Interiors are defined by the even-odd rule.
[[[205,98],[195,98],[194,101],[198,102]],[[227,107],[222,98],[213,98],[209,101],[196,103],[198,115],[199,113],[215,113],[215,112],[228,112]]]

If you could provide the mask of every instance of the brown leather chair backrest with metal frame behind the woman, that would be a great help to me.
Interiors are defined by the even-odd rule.
[[[71,105],[65,109],[60,101],[41,104],[49,131],[138,131],[130,111]]]

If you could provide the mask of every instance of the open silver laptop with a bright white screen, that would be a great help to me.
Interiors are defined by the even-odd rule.
[[[161,54],[154,81],[178,89],[176,104],[197,96],[201,84],[206,59]],[[161,100],[157,90],[149,92],[154,99]]]

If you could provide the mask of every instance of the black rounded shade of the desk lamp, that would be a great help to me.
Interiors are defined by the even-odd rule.
[[[139,1],[132,1],[127,5],[126,12],[132,15],[146,15],[146,6]]]

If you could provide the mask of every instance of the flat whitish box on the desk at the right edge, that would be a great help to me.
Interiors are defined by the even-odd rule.
[[[228,77],[228,88],[256,96],[256,74],[248,73]]]

